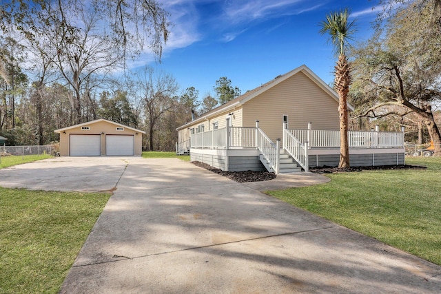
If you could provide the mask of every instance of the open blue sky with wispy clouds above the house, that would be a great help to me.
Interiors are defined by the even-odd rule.
[[[327,36],[319,34],[325,15],[348,7],[356,38],[372,34],[377,0],[163,0],[170,12],[170,40],[156,70],[172,74],[199,98],[221,76],[242,93],[305,64],[325,83],[333,81],[335,58]],[[148,60],[143,56],[143,60]]]

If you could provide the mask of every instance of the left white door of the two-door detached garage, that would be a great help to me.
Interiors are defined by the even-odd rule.
[[[101,156],[101,136],[70,135],[70,156]]]

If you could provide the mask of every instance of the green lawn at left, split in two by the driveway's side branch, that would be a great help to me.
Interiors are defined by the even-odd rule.
[[[0,167],[48,157],[2,157]],[[0,187],[0,293],[57,293],[109,198]]]

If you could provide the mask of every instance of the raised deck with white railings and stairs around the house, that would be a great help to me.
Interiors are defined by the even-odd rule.
[[[348,138],[353,167],[404,164],[404,132],[350,131]],[[339,132],[311,127],[284,129],[283,139],[276,143],[258,123],[256,127],[225,127],[192,134],[188,143],[176,145],[176,154],[183,152],[182,148],[189,150],[191,160],[224,171],[266,169],[278,174],[284,170],[293,172],[291,163],[298,165],[296,171],[309,171],[309,167],[338,166],[340,160]]]

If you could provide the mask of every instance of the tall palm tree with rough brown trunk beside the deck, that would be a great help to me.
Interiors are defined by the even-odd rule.
[[[338,167],[349,167],[349,144],[347,140],[348,113],[347,96],[351,84],[351,63],[349,63],[346,50],[349,40],[353,40],[352,34],[354,21],[348,22],[349,11],[347,8],[340,12],[334,12],[326,16],[326,20],[320,23],[320,34],[329,34],[329,41],[334,45],[334,54],[338,57],[335,68],[335,85],[340,102],[338,113],[340,116],[340,163]]]

